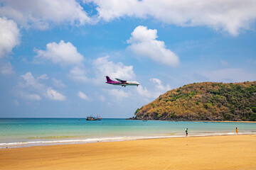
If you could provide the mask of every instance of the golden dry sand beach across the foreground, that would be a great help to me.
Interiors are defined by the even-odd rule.
[[[0,169],[256,169],[256,135],[0,149]]]

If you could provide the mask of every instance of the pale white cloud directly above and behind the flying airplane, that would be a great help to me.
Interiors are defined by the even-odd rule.
[[[92,62],[95,73],[97,74],[96,83],[104,81],[105,76],[109,76],[112,79],[134,79],[133,66],[126,66],[122,62],[114,63],[109,61],[109,58],[109,56],[99,57]]]

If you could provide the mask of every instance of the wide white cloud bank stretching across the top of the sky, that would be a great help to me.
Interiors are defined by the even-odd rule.
[[[80,3],[79,3],[80,2]],[[88,16],[82,6],[94,3],[95,16]],[[80,5],[82,4],[82,6]],[[81,26],[115,18],[154,18],[177,26],[207,26],[238,35],[250,30],[255,22],[254,0],[1,0],[0,16],[6,16],[24,28],[46,30],[63,23]],[[94,10],[94,7],[93,9]]]

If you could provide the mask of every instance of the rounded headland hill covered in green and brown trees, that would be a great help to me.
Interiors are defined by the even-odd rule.
[[[138,108],[135,119],[256,120],[256,81],[184,85]]]

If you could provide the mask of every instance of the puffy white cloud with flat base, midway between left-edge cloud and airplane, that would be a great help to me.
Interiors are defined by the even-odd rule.
[[[70,42],[65,43],[61,40],[58,44],[56,42],[49,42],[46,45],[46,50],[36,50],[38,55],[36,58],[51,60],[55,64],[62,66],[69,64],[81,64],[84,60],[77,48]]]

